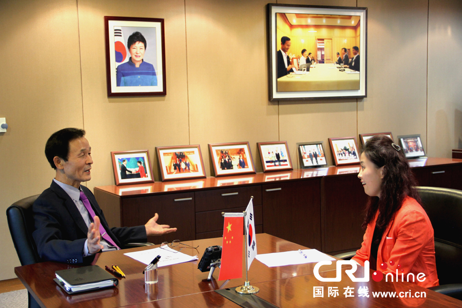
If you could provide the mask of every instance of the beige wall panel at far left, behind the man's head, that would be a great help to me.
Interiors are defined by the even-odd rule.
[[[44,150],[48,137],[83,126],[79,31],[75,1],[3,1],[0,4],[0,280],[20,265],[6,209],[49,187],[55,172]]]

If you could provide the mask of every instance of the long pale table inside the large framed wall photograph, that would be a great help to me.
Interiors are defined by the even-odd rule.
[[[359,90],[359,73],[341,72],[333,64],[316,64],[304,75],[289,74],[278,79],[278,92]]]

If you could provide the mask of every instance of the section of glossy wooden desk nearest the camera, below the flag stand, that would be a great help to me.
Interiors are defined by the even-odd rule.
[[[358,267],[355,276],[363,276],[363,267]],[[335,271],[320,273],[323,277],[333,278]],[[320,282],[314,275],[296,276],[272,281],[253,283],[252,285],[260,288],[258,297],[281,308],[296,307],[460,307],[462,301],[445,296],[426,288],[419,287],[409,282],[352,282],[351,279],[342,272],[340,282]],[[314,297],[314,287],[323,287],[323,297]],[[360,297],[359,287],[367,286],[369,297]],[[329,296],[328,288],[337,287],[338,296]],[[345,297],[344,288],[353,287],[354,297]],[[383,294],[374,297],[373,292],[389,292],[387,297]],[[390,292],[394,292],[397,297],[390,298]],[[408,293],[406,293],[408,292]],[[418,293],[419,298],[415,295]],[[425,293],[425,297],[423,297]],[[139,305],[127,306],[127,308],[183,308],[183,307],[221,307],[236,308],[239,305],[227,300],[214,291],[188,296],[169,298],[156,301],[155,304],[143,303]]]

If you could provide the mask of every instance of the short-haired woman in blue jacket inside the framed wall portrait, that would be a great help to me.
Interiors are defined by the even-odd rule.
[[[118,87],[157,86],[154,66],[143,61],[146,39],[140,32],[133,32],[127,42],[130,59],[117,67]]]

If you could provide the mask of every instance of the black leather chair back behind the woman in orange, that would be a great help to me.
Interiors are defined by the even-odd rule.
[[[462,191],[417,187],[435,234],[439,284],[462,283]]]

